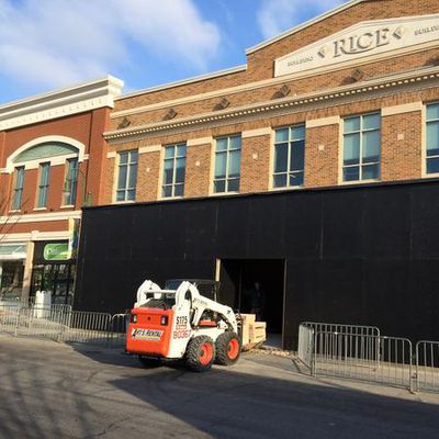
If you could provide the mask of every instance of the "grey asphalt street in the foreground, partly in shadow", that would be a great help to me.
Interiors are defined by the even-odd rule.
[[[439,395],[315,380],[260,353],[196,374],[0,335],[0,438],[98,437],[437,439]]]

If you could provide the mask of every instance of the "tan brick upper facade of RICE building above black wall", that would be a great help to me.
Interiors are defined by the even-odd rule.
[[[438,13],[435,0],[349,1],[245,66],[119,98],[105,202],[437,175]],[[117,175],[127,155],[136,183]]]

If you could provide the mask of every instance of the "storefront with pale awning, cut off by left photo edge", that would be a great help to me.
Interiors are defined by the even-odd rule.
[[[23,291],[26,244],[0,244],[0,300],[18,300]]]

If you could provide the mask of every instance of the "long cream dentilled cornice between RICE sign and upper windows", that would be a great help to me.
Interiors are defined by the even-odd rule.
[[[243,117],[257,117],[261,114],[275,113],[282,110],[291,111],[292,109],[305,108],[309,104],[319,102],[331,102],[344,98],[352,98],[363,95],[365,93],[374,93],[382,90],[392,90],[401,87],[407,87],[414,83],[425,82],[429,80],[437,80],[439,78],[439,67],[430,67],[421,71],[410,71],[387,76],[384,78],[372,79],[369,81],[358,82],[354,85],[342,86],[335,89],[289,97],[275,101],[266,101],[258,104],[243,105],[239,108],[224,110],[221,112],[210,112],[198,116],[182,117],[173,120],[172,122],[156,122],[144,124],[136,127],[128,127],[124,130],[111,131],[104,133],[108,140],[126,139],[130,137],[142,136],[145,134],[160,133],[164,131],[194,127],[205,123],[215,123],[233,119]]]

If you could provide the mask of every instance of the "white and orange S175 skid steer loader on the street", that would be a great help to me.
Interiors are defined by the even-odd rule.
[[[146,280],[131,312],[126,351],[144,364],[159,359],[184,359],[195,372],[213,362],[234,364],[240,354],[234,311],[200,294],[196,282],[179,281],[161,290]]]

